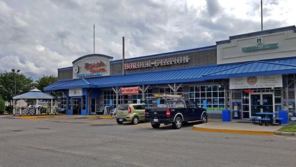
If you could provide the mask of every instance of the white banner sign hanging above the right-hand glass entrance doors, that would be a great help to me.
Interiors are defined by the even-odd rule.
[[[230,89],[283,87],[281,75],[229,79]]]

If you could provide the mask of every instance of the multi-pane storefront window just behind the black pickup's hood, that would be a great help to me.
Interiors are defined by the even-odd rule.
[[[208,111],[222,111],[224,95],[222,86],[189,86],[189,99],[199,106],[203,106],[203,101],[206,100]]]

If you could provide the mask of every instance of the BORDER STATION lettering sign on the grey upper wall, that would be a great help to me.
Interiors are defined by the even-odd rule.
[[[153,66],[158,67],[158,66],[165,66],[165,65],[175,65],[175,64],[189,63],[189,61],[190,61],[189,56],[179,56],[174,58],[163,58],[156,61],[141,61],[141,62],[134,62],[134,63],[125,63],[124,70],[153,67]]]

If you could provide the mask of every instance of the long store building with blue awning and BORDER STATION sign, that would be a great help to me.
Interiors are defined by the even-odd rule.
[[[295,110],[296,28],[270,29],[230,36],[216,45],[151,56],[112,60],[90,54],[58,69],[44,88],[60,92],[60,110],[90,115],[104,106],[147,102],[153,94],[177,94],[222,116]]]

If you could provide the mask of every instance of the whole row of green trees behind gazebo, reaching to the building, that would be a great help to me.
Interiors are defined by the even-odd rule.
[[[58,78],[54,75],[43,75],[36,81],[33,81],[31,77],[26,77],[19,72],[0,73],[0,113],[3,112],[3,109],[1,108],[5,108],[5,102],[8,102],[10,106],[12,105],[11,102],[15,95],[27,93],[34,88],[43,91],[44,87],[49,86],[56,81],[58,81]]]

